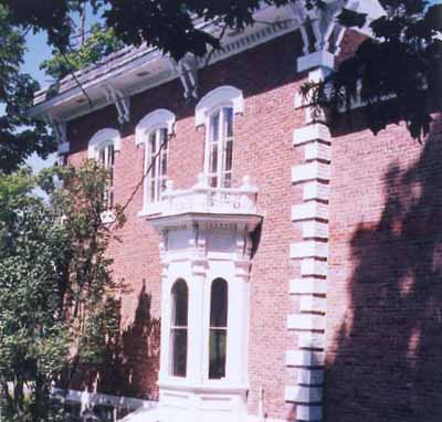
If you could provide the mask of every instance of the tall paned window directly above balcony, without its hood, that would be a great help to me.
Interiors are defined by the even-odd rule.
[[[222,107],[210,115],[208,133],[208,178],[213,188],[230,188],[233,158],[233,108]]]

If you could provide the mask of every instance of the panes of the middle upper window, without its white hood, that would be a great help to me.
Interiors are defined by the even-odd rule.
[[[146,169],[150,166],[146,186],[145,198],[148,202],[159,202],[162,199],[162,192],[166,190],[167,181],[167,128],[151,130],[148,135],[146,150]],[[162,147],[161,147],[162,146]]]

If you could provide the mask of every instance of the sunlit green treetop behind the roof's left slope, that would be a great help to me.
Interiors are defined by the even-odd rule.
[[[101,25],[94,24],[83,45],[80,45],[76,50],[72,49],[66,54],[53,51],[52,57],[45,60],[40,68],[55,80],[61,80],[88,64],[99,62],[104,56],[118,51],[123,46],[123,42],[114,35],[112,29],[103,30]]]

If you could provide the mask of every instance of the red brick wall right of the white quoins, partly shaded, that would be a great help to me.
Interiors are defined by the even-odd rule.
[[[326,420],[442,420],[442,125],[333,140]]]

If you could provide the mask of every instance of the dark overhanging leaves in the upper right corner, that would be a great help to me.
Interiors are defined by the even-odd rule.
[[[349,110],[360,98],[375,134],[406,122],[421,140],[430,130],[431,112],[441,107],[442,4],[427,9],[427,1],[380,2],[387,13],[370,24],[375,38],[366,39],[324,83],[306,85],[304,94],[317,109],[333,113]],[[365,17],[343,13],[340,19],[351,25]]]

